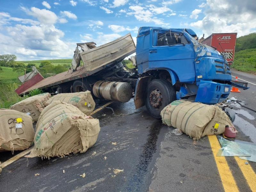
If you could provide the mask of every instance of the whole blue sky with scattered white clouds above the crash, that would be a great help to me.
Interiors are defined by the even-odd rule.
[[[192,28],[199,37],[255,32],[251,0],[0,0],[0,54],[72,58],[76,43],[107,43],[141,26]]]

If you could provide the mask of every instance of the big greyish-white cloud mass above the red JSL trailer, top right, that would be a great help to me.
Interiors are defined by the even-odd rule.
[[[244,36],[256,31],[255,5],[250,0],[207,0],[204,18],[190,26],[202,30],[205,36],[232,32],[237,32],[237,36]]]

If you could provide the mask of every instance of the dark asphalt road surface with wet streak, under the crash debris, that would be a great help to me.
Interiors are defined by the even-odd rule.
[[[256,76],[236,71],[232,75],[256,84]],[[253,84],[230,97],[256,109]],[[237,113],[237,139],[255,143],[256,114],[237,103],[230,105]],[[108,107],[116,115],[138,113],[113,116],[109,108],[98,111],[93,117],[100,120],[101,131],[92,148],[50,160],[22,157],[4,167],[0,191],[256,191],[256,163],[216,157],[216,136],[197,142],[185,134],[176,136],[145,108],[135,109],[132,100]],[[6,161],[2,154],[0,161]],[[114,169],[123,172],[115,174]],[[85,178],[80,177],[83,173]]]

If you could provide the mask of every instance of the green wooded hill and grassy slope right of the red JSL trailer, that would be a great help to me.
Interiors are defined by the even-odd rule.
[[[232,68],[243,72],[256,73],[256,33],[237,38]]]

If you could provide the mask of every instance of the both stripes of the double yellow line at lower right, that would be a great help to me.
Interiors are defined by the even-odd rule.
[[[229,169],[228,162],[224,156],[217,156],[219,149],[221,148],[219,140],[215,135],[208,136],[210,141],[210,145],[212,148],[213,156],[220,173],[220,179],[222,181],[223,188],[225,192],[236,192],[239,191],[236,180],[232,175],[232,172]],[[256,191],[256,174],[253,171],[251,165],[245,164],[246,160],[240,159],[239,157],[235,157],[236,163],[238,164],[241,172],[244,175],[244,178],[251,188],[252,191]]]

